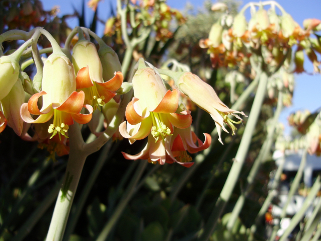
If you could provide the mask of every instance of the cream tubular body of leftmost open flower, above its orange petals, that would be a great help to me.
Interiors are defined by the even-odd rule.
[[[44,63],[42,90],[47,93],[43,95],[42,110],[52,103],[61,105],[76,90],[76,79],[73,66],[64,55],[51,54]]]

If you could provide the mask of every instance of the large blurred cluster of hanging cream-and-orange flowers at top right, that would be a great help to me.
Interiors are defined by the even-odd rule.
[[[247,22],[242,9],[231,21],[232,16],[226,13],[213,24],[209,37],[200,40],[201,48],[208,48],[213,66],[235,66],[249,64],[249,57],[253,49],[261,49],[264,62],[275,67],[282,64],[284,55],[297,45],[293,71],[300,73],[303,68],[306,53],[313,63],[314,71],[319,72],[319,61],[315,52],[320,52],[320,39],[311,38],[310,34],[321,28],[321,21],[307,19],[302,29],[281,6],[274,2],[267,11],[264,6],[269,2],[252,3],[252,18]],[[249,5],[247,5],[249,7]],[[258,9],[256,9],[256,6]],[[277,6],[282,15],[276,14]],[[215,7],[215,6],[214,6]],[[216,11],[216,8],[213,8]],[[225,8],[227,11],[227,7]],[[262,48],[261,48],[262,46]],[[291,57],[291,54],[289,54]]]

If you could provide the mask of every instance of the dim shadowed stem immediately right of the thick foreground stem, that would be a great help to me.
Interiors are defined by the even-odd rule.
[[[91,172],[90,177],[87,179],[86,185],[85,185],[81,195],[79,196],[78,202],[76,203],[76,205],[74,205],[75,207],[73,207],[71,210],[71,215],[68,220],[68,225],[66,227],[66,231],[65,231],[63,240],[69,240],[69,236],[71,235],[71,233],[74,230],[75,225],[77,224],[77,221],[79,219],[81,211],[84,208],[87,197],[88,197],[93,185],[95,184],[95,181],[96,181],[100,171],[102,170],[108,157],[113,154],[113,153],[109,153],[109,150],[110,150],[112,144],[113,144],[113,142],[109,141],[103,147],[103,149],[99,155],[99,158],[97,160],[97,163],[96,163],[93,171]]]

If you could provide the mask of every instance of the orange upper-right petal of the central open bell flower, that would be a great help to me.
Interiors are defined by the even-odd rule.
[[[161,103],[158,104],[156,109],[152,112],[159,113],[175,113],[178,107],[178,91],[174,89],[173,91],[168,90],[163,97]]]

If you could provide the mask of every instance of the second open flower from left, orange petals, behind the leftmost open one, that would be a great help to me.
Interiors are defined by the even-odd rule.
[[[72,63],[76,73],[76,89],[84,91],[85,104],[93,106],[94,110],[109,102],[122,83],[123,74],[114,72],[107,82],[103,80],[103,66],[96,46],[87,40],[78,41],[72,50]]]

